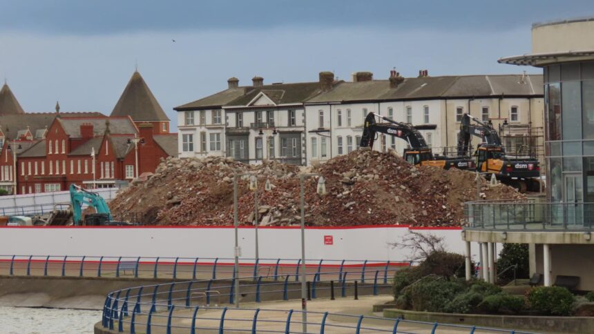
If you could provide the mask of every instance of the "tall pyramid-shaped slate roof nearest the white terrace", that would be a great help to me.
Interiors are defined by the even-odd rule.
[[[134,121],[169,121],[138,71],[128,81],[111,116],[130,116]]]

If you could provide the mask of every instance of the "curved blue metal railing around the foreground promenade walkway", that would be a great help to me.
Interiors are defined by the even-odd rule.
[[[352,276],[358,277],[361,273],[352,273]],[[309,282],[308,299],[316,298],[316,289],[324,289],[324,291],[332,289],[330,296],[331,299],[334,299],[334,281],[328,278],[332,278],[337,274],[320,273],[324,277],[314,281],[318,284]],[[376,271],[374,277],[378,277],[378,275],[379,271]],[[264,294],[282,295],[283,300],[300,297],[298,283],[294,282],[294,287],[287,288],[289,275],[285,277],[285,283],[276,283],[272,280],[273,278],[272,276],[242,277],[240,279],[242,299],[253,296],[251,299],[258,303],[261,302]],[[247,279],[252,282],[247,283]],[[267,279],[270,282],[268,286],[271,286],[272,290],[262,291],[262,279]],[[437,333],[438,329],[467,330],[470,334],[479,333],[479,331],[481,333],[527,333],[497,328],[417,322],[365,315],[304,312],[293,309],[232,308],[220,304],[211,306],[211,295],[216,295],[219,298],[222,296],[223,299],[221,300],[226,300],[228,297],[229,304],[233,303],[235,297],[233,284],[227,282],[227,285],[221,285],[221,281],[173,282],[113,291],[106,297],[101,324],[104,328],[121,333],[142,332],[150,334],[153,331],[158,331],[159,333],[169,334],[173,330],[178,332],[186,330],[192,334],[204,331],[208,331],[208,333],[226,333],[225,331],[238,331],[240,333],[304,333],[300,331],[300,325],[302,324],[303,314],[307,314],[307,333],[323,334],[325,331],[332,333],[333,329],[338,330],[338,328],[342,331],[341,333],[344,333],[347,329],[351,329],[352,333],[416,333],[414,331],[427,330],[430,330],[431,333]],[[256,284],[253,282],[256,282]],[[377,279],[374,279],[374,284],[358,285],[358,278],[347,279],[347,274],[343,275],[340,283],[354,289],[353,294],[349,295],[354,296],[354,299],[357,299],[358,294],[361,293],[357,289],[367,288],[367,293],[373,295],[377,294],[378,288],[385,288],[386,291],[391,290],[390,284],[380,284]],[[193,288],[198,284],[206,285],[206,287]],[[321,284],[324,284],[324,287],[321,287]],[[280,286],[282,286],[282,290]],[[214,287],[217,290],[214,290]],[[347,295],[342,294],[341,297],[347,297]],[[196,303],[199,300],[202,300],[203,303]],[[343,321],[340,321],[341,318],[343,318]]]

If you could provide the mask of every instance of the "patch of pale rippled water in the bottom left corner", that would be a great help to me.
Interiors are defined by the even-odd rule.
[[[93,333],[101,311],[0,307],[1,334]]]

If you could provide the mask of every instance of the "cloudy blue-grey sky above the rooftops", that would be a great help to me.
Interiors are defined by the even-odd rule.
[[[137,67],[162,108],[251,78],[541,72],[532,23],[593,17],[591,0],[0,0],[0,76],[26,112],[111,113]],[[175,41],[173,41],[175,40]]]

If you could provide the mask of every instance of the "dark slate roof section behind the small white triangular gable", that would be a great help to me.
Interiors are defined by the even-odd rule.
[[[258,86],[227,106],[247,106],[258,94],[266,95],[275,104],[299,104],[321,92],[319,82],[278,83]]]

